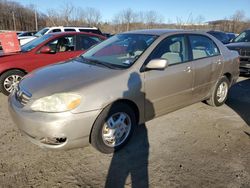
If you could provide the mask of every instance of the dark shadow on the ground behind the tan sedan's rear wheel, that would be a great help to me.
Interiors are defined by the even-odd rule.
[[[250,79],[239,81],[232,86],[226,104],[250,126]]]

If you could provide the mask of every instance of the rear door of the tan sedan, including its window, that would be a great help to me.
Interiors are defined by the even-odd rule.
[[[194,101],[205,99],[222,71],[222,56],[212,39],[189,35],[194,66]]]

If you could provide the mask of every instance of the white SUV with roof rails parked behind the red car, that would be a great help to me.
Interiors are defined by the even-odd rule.
[[[46,35],[48,33],[57,33],[57,32],[88,32],[88,33],[94,33],[98,35],[102,35],[102,32],[100,29],[96,27],[64,27],[64,26],[58,26],[58,27],[45,27],[38,31],[35,35],[25,37],[25,38],[20,38],[20,45],[24,45],[32,40],[34,40],[37,37],[41,37],[43,35]]]

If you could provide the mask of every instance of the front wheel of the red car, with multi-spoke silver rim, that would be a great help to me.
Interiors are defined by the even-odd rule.
[[[10,70],[3,73],[0,76],[0,91],[8,96],[24,75],[25,73],[20,70]]]

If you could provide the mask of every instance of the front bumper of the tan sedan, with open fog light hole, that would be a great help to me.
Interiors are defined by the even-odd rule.
[[[11,95],[9,112],[21,132],[34,144],[48,149],[73,149],[89,143],[92,125],[101,110],[79,114],[34,112],[24,110]]]

